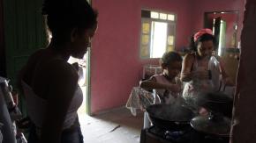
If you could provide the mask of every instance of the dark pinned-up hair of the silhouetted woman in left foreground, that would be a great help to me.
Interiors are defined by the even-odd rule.
[[[73,28],[79,33],[97,25],[98,13],[86,0],[44,0],[42,15],[56,42],[69,40]]]

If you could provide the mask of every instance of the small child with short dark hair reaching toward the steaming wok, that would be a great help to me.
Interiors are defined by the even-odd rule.
[[[162,74],[153,75],[148,80],[139,83],[142,89],[155,89],[161,104],[173,104],[180,91],[181,82],[177,77],[182,67],[182,57],[176,52],[167,52],[160,60]]]

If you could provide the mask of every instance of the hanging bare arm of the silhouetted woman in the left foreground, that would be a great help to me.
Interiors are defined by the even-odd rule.
[[[56,61],[49,69],[48,107],[41,128],[40,143],[58,143],[61,139],[64,118],[77,89],[79,76],[72,65]]]

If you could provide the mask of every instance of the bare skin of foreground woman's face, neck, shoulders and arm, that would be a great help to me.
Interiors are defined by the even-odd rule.
[[[60,142],[64,118],[79,80],[76,68],[67,61],[71,55],[81,58],[86,54],[95,30],[96,26],[78,34],[73,29],[70,41],[62,45],[51,42],[46,49],[30,56],[20,72],[20,81],[26,82],[37,96],[48,102],[41,127],[41,143]],[[61,46],[61,50],[56,50],[56,46]]]

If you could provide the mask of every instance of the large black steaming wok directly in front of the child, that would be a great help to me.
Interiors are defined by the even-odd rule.
[[[165,131],[184,131],[191,128],[190,120],[195,116],[183,104],[152,104],[146,111],[152,124]]]

